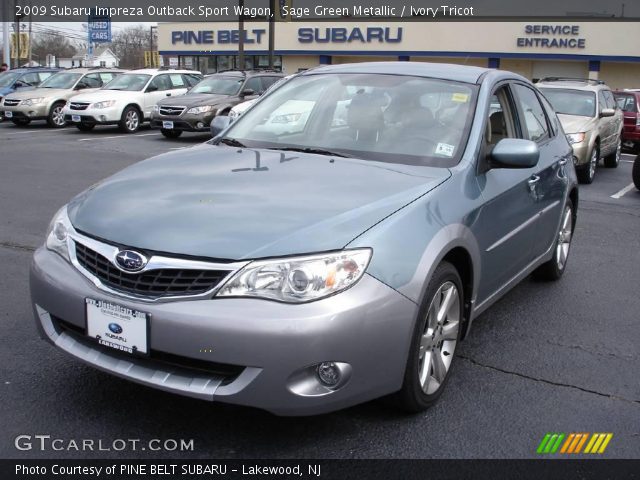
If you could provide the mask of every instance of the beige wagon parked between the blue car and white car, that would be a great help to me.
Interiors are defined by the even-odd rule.
[[[51,127],[64,127],[62,113],[67,100],[78,91],[89,93],[109,83],[122,70],[74,68],[51,75],[39,87],[11,93],[2,104],[2,115],[16,125],[46,120]]]

